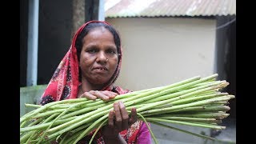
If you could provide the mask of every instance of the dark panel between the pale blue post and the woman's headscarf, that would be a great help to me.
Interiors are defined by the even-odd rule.
[[[70,48],[72,1],[39,1],[38,85],[47,84]]]

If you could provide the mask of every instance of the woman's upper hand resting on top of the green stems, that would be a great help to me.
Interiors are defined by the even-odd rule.
[[[88,98],[91,100],[101,98],[103,101],[108,101],[110,99],[113,99],[117,95],[118,95],[117,93],[114,93],[108,90],[104,90],[104,91],[90,90],[89,92],[85,92],[84,94],[82,94],[80,98]]]

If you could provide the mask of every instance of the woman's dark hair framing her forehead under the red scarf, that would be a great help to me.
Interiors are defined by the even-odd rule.
[[[80,34],[78,34],[78,37],[76,39],[75,42],[75,47],[77,49],[77,56],[78,56],[78,62],[80,61],[80,54],[81,54],[81,50],[82,50],[82,39],[86,36],[86,34],[88,34],[90,32],[90,30],[93,30],[96,27],[104,27],[107,30],[110,30],[110,33],[113,35],[114,37],[114,44],[115,46],[117,46],[117,50],[118,50],[118,59],[119,56],[121,55],[121,42],[120,42],[120,37],[119,34],[116,30],[114,30],[113,26],[107,25],[106,23],[103,22],[91,22],[88,25],[86,25],[84,27],[84,29],[81,31]]]

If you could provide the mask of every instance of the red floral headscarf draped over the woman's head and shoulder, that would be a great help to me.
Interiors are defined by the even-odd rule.
[[[49,102],[60,101],[63,99],[77,98],[78,95],[78,56],[77,49],[75,47],[75,42],[77,40],[78,34],[91,22],[102,22],[106,25],[110,24],[103,21],[90,21],[83,24],[78,31],[74,34],[70,50],[67,51],[66,55],[59,63],[58,68],[55,70],[54,75],[50,79],[45,92],[42,94],[40,104],[45,105]],[[121,43],[121,42],[120,42]],[[114,75],[107,82],[106,86],[102,90],[113,90],[113,84],[118,78],[120,67],[122,63],[122,50],[121,46],[118,50],[118,66],[114,72]],[[122,90],[120,87],[115,87],[115,91],[118,94],[126,93],[126,90]]]

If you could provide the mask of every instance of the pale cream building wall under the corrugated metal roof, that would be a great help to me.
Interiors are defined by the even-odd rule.
[[[106,18],[122,38],[116,85],[129,90],[166,86],[214,74],[215,19]]]

